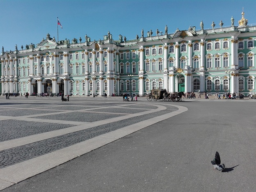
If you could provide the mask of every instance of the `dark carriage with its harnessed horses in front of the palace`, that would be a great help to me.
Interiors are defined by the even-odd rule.
[[[163,101],[180,101],[181,97],[184,95],[184,92],[178,93],[167,93],[166,89],[152,89],[151,93],[147,95],[148,101],[157,101],[162,99]]]

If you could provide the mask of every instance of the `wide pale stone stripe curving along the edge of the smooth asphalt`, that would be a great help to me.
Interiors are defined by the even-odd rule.
[[[94,137],[78,144],[74,144],[64,149],[60,149],[46,155],[41,155],[37,158],[33,158],[24,162],[17,163],[15,165],[11,165],[9,167],[2,168],[0,169],[0,190],[3,190],[6,187],[21,182],[34,175],[52,169],[53,167],[57,167],[64,162],[72,160],[101,146],[109,144],[121,137],[134,133],[142,128],[146,128],[147,126],[150,126],[154,123],[187,111],[187,107],[182,107],[178,105],[171,106],[177,107],[178,110],[158,117],[154,117],[150,120],[141,121],[139,123],[120,128],[118,130],[103,134],[98,137]]]

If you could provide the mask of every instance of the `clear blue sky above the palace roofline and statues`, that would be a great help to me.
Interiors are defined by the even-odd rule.
[[[127,40],[141,36],[141,30],[156,29],[168,33],[187,30],[190,25],[200,29],[211,28],[215,21],[219,27],[231,25],[231,16],[235,25],[241,19],[242,7],[248,24],[256,25],[255,0],[1,0],[0,1],[0,46],[5,51],[18,50],[21,45],[40,43],[46,34],[57,40],[57,17],[63,29],[59,27],[59,40],[82,38],[85,34],[91,40],[103,39],[108,30],[113,39],[119,34]]]

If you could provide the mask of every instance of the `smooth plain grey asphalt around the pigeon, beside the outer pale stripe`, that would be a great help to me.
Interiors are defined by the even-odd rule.
[[[255,102],[173,103],[188,110],[2,192],[256,191]],[[210,163],[216,151],[224,172]]]

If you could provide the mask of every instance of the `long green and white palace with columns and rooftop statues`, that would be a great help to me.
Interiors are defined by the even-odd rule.
[[[244,18],[211,29],[189,27],[168,33],[142,30],[126,41],[108,32],[103,40],[56,41],[47,34],[39,44],[5,52],[1,91],[84,96],[143,96],[151,89],[168,92],[242,93],[255,91],[256,25]],[[140,37],[139,37],[140,36]]]

